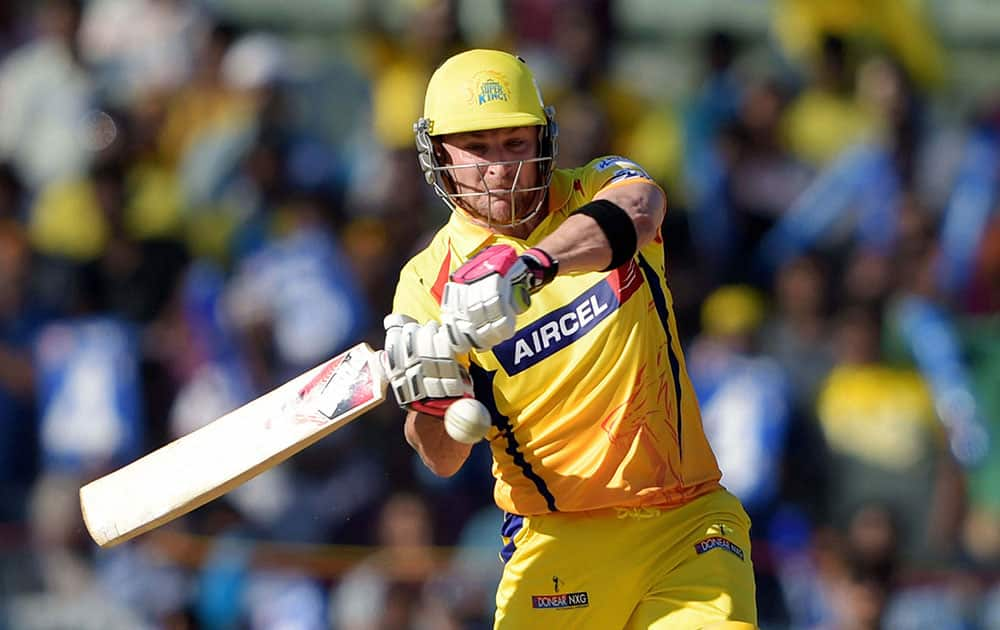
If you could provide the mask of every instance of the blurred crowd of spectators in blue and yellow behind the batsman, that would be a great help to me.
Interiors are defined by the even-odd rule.
[[[560,166],[667,191],[762,627],[1000,628],[1000,82],[955,98],[927,3],[776,1],[665,97],[616,63],[642,3],[254,4],[0,3],[0,628],[491,627],[488,449],[435,478],[392,405],[111,550],[77,498],[381,344],[447,219],[411,125],[470,46],[536,69]]]

